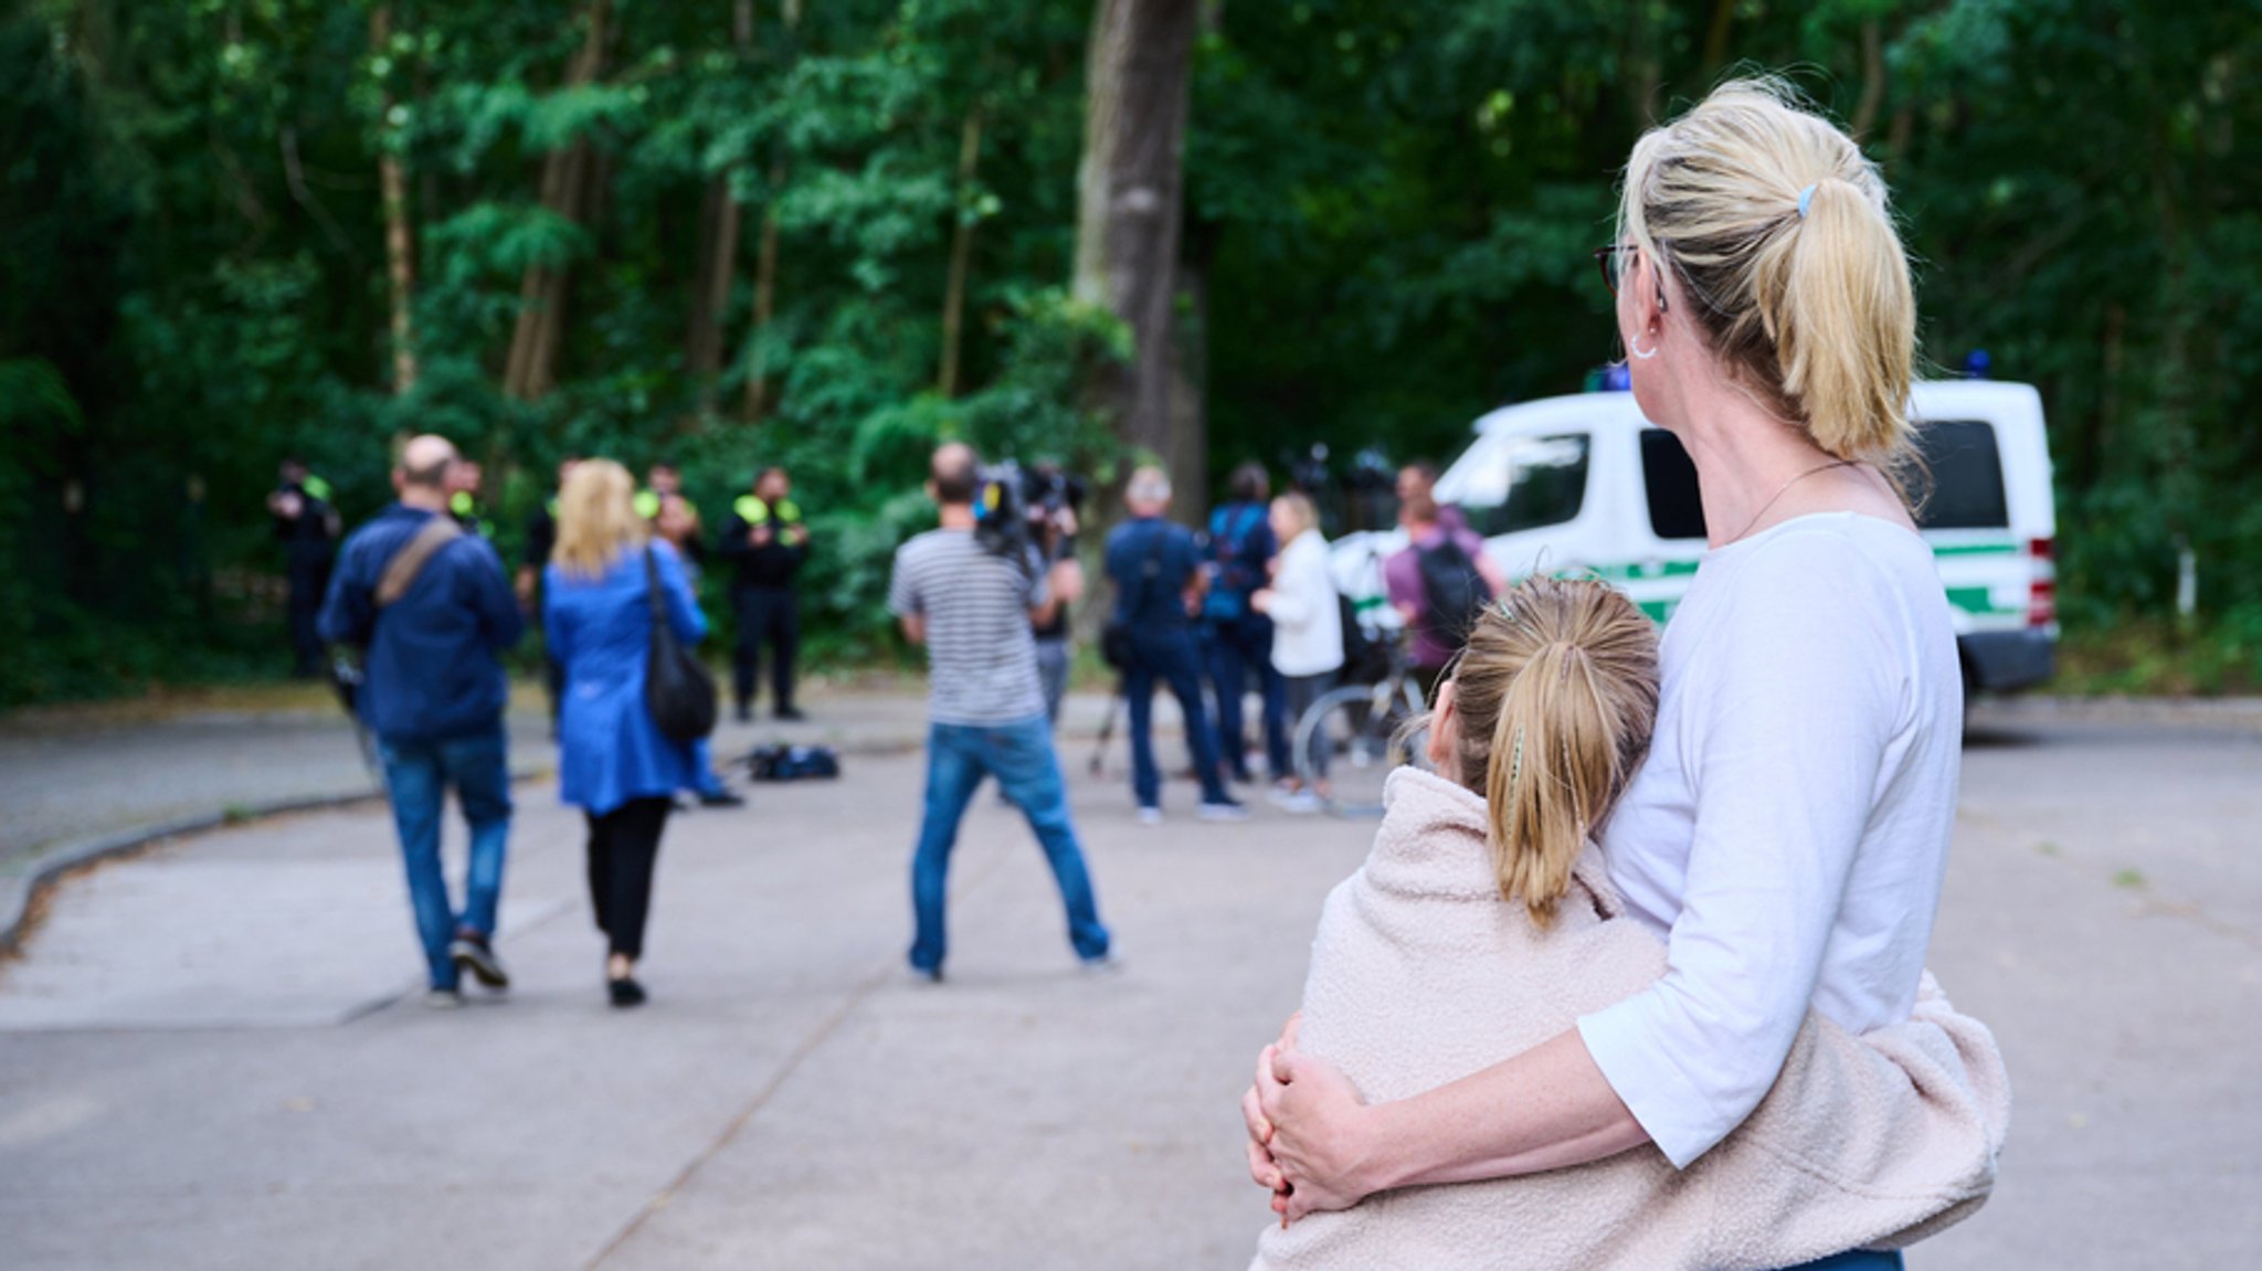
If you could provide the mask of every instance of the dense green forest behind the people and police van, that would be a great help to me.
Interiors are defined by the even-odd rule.
[[[2257,59],[2253,0],[11,0],[0,703],[280,674],[276,459],[360,520],[405,432],[507,556],[566,452],[710,529],[789,466],[832,658],[939,436],[1190,509],[1445,459],[1615,353],[1617,165],[1737,70],[1882,165],[1932,364],[2040,387],[2079,683],[2248,690]]]

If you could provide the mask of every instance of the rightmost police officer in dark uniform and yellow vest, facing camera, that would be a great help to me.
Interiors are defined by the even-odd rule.
[[[753,719],[753,685],[762,678],[762,645],[769,645],[771,692],[778,719],[803,719],[794,708],[794,658],[801,651],[801,602],[794,574],[810,559],[810,527],[794,502],[785,468],[762,468],[753,493],[731,504],[719,552],[731,561],[731,608],[737,611],[737,656],[731,690],[737,719]]]

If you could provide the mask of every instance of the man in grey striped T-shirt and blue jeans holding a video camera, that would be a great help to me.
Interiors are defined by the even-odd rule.
[[[943,893],[959,819],[982,776],[998,778],[1045,848],[1068,907],[1068,943],[1086,968],[1108,968],[1108,930],[1099,925],[1093,880],[1077,828],[1068,819],[1068,785],[1052,751],[1052,724],[1036,674],[1029,624],[1045,622],[1054,599],[1034,559],[1009,559],[975,538],[979,461],[968,446],[934,452],[927,495],[941,509],[930,529],[896,550],[887,606],[914,645],[927,647],[927,810],[912,857],[912,970],[943,977]]]

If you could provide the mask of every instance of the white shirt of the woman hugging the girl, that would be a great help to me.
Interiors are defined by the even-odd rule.
[[[1909,1018],[1963,681],[1929,545],[1855,513],[1708,552],[1660,669],[1658,730],[1604,855],[1667,970],[1579,1034],[1687,1165],[1760,1104],[1810,1004],[1855,1034]]]

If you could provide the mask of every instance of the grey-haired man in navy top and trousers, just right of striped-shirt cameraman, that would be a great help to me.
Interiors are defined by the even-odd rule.
[[[1183,525],[1163,520],[1169,511],[1169,477],[1160,468],[1131,473],[1124,491],[1131,520],[1108,534],[1108,579],[1115,583],[1115,622],[1131,631],[1131,663],[1124,697],[1131,699],[1131,794],[1140,821],[1163,819],[1163,776],[1154,762],[1154,685],[1163,681],[1185,717],[1185,742],[1194,751],[1201,780],[1201,819],[1240,821],[1249,814],[1226,794],[1217,762],[1217,735],[1201,706],[1201,651],[1194,645],[1192,611],[1201,599],[1201,545]]]

